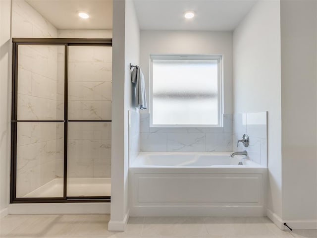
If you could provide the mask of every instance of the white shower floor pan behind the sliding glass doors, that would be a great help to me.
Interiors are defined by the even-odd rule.
[[[53,179],[23,197],[62,197],[64,179]],[[111,179],[67,179],[67,196],[110,196]]]

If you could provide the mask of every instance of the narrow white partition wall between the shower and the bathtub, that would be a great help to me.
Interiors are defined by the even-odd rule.
[[[128,220],[128,110],[133,106],[129,63],[139,63],[140,30],[133,1],[113,1],[111,214],[109,230]]]

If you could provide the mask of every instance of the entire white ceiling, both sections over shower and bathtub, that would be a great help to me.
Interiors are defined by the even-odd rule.
[[[112,29],[112,0],[26,0],[57,29]],[[257,0],[134,0],[142,30],[232,31]],[[185,19],[193,10],[196,16]],[[88,12],[88,19],[78,17]]]

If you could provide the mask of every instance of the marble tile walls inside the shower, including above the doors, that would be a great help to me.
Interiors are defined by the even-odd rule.
[[[57,31],[25,0],[13,0],[12,37],[111,38],[112,31]],[[69,48],[69,119],[111,119],[111,61],[111,47]],[[63,47],[20,47],[18,83],[18,119],[64,118]],[[42,131],[36,133],[47,138],[31,139],[35,133],[33,127],[34,130],[41,128]],[[64,142],[60,127],[63,128],[56,125],[54,132],[51,125],[19,126],[18,196],[63,177]],[[70,124],[69,178],[110,177],[110,131],[111,122]]]

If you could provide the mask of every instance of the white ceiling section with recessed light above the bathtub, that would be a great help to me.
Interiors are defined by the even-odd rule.
[[[134,0],[142,30],[232,31],[257,0]],[[193,10],[196,16],[185,19]]]

